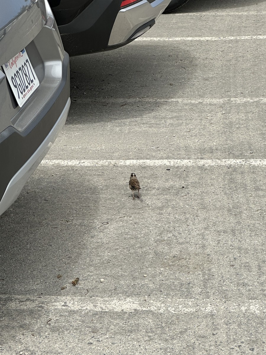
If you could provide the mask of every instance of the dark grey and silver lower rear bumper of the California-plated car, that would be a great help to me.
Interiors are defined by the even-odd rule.
[[[69,56],[62,62],[62,81],[35,119],[20,132],[0,133],[0,215],[16,200],[65,124],[70,107]]]

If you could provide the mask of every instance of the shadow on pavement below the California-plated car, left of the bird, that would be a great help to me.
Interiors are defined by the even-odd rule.
[[[1,295],[81,292],[71,282],[83,278],[79,263],[90,253],[98,187],[73,169],[41,169],[0,217]]]

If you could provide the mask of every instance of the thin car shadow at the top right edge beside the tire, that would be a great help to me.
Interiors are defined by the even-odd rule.
[[[265,0],[189,0],[184,6],[173,13],[205,12],[210,10],[235,9],[236,7],[249,7],[266,2]]]

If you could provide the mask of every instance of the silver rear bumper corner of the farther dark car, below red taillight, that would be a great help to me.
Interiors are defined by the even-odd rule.
[[[125,43],[148,31],[168,6],[170,0],[142,0],[121,9],[113,24],[109,46]]]

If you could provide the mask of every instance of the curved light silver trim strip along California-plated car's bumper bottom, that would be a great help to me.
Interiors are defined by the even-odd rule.
[[[4,195],[0,201],[0,215],[6,211],[7,208],[16,200],[20,194],[23,186],[26,184],[28,178],[32,175],[34,170],[40,164],[41,160],[45,157],[46,153],[49,151],[52,143],[54,143],[56,137],[64,126],[67,114],[70,108],[70,97],[67,100],[65,107],[59,118],[57,119],[54,127],[52,127],[50,133],[44,141],[40,144],[37,150],[32,154],[32,156],[27,160],[27,162],[18,170],[18,172],[10,180],[6,187]]]

